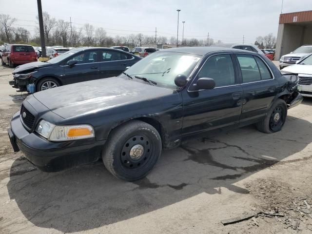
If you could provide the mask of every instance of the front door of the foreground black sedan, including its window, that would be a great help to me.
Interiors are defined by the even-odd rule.
[[[200,69],[198,78],[213,78],[212,90],[183,92],[183,135],[197,134],[220,127],[238,126],[243,90],[230,54],[214,55]],[[194,81],[194,82],[195,82]]]

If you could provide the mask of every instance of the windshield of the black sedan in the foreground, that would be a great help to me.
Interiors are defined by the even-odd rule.
[[[182,74],[189,77],[201,58],[186,53],[157,52],[134,64],[126,73],[147,78],[160,86],[176,88],[176,76]]]

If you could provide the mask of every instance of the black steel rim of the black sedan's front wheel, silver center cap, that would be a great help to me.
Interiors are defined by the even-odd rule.
[[[123,167],[135,169],[144,167],[151,158],[154,143],[149,137],[136,135],[130,137],[123,145],[120,152],[120,161]]]

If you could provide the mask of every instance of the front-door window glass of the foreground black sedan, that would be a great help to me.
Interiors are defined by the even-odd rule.
[[[215,87],[235,84],[234,65],[230,55],[209,58],[198,73],[198,78],[213,78]]]

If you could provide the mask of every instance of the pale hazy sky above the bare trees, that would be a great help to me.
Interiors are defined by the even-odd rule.
[[[0,2],[3,0],[0,0]],[[176,37],[177,11],[179,39],[221,40],[224,43],[254,43],[257,36],[277,36],[282,0],[42,0],[42,11],[52,17],[103,27],[115,37],[143,35]],[[284,0],[283,13],[312,10],[312,0]],[[37,0],[10,0],[0,13],[17,18],[14,26],[34,34],[38,15]]]

